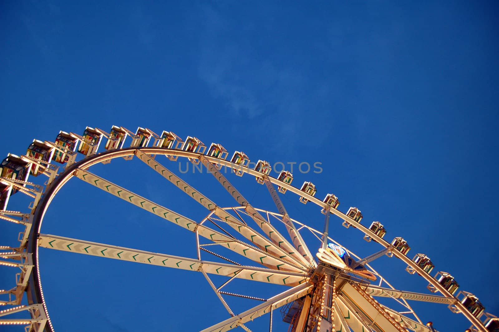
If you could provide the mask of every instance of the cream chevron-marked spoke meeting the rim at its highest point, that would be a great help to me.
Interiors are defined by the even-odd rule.
[[[210,200],[208,197],[195,190],[191,185],[178,177],[175,173],[167,169],[165,166],[161,165],[158,161],[154,160],[151,156],[143,153],[140,150],[136,151],[137,157],[147,164],[149,167],[154,169],[156,172],[161,174],[165,179],[170,181],[172,184],[177,186],[177,188],[181,189],[185,194],[189,197],[193,198],[196,202],[203,205],[210,211],[213,211],[217,216],[221,218],[221,220],[231,226],[238,233],[243,235],[246,239],[253,242],[255,246],[264,250],[265,252],[271,254],[274,257],[284,258],[286,260],[291,261],[292,264],[301,266],[306,269],[307,266],[303,265],[301,262],[295,259],[289,259],[289,253],[285,252],[281,248],[277,247],[273,242],[267,240],[267,238],[263,237],[261,234],[257,233],[253,229],[251,229],[248,225],[243,224],[241,221],[235,219],[225,210],[220,209],[220,207]],[[270,248],[269,248],[270,247]],[[285,256],[285,257],[283,257]],[[293,258],[291,256],[291,258]]]

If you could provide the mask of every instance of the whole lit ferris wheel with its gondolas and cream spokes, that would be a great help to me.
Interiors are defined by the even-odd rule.
[[[227,311],[226,317],[221,317],[218,323],[207,324],[203,332],[236,328],[251,331],[249,323],[264,315],[269,317],[268,328],[272,331],[275,313],[289,324],[288,331],[293,332],[435,332],[431,322],[420,320],[410,301],[448,306],[452,312],[466,317],[471,324],[469,331],[499,331],[499,319],[486,313],[475,295],[459,291],[451,274],[435,273],[435,266],[425,254],[418,253],[411,259],[408,256],[411,248],[402,237],[387,241],[387,231],[380,222],[363,225],[362,213],[356,207],[341,212],[339,200],[332,193],[326,194],[323,200],[316,198],[316,188],[311,182],[295,187],[289,171],[282,170],[277,177],[272,177],[267,161],[251,163],[241,151],[228,157],[229,152],[222,145],[212,143],[207,148],[196,137],[183,140],[173,132],[163,131],[158,135],[147,128],[139,127],[132,132],[118,126],[109,132],[87,127],[82,135],[61,131],[53,142],[33,140],[25,155],[8,154],[0,165],[0,218],[20,225],[22,231],[18,246],[0,246],[1,273],[12,276],[12,285],[0,285],[0,309],[5,308],[0,310],[0,325],[19,325],[25,331],[57,330],[57,322],[52,324],[49,318],[50,305],[45,302],[41,286],[39,252],[40,248],[46,248],[186,270],[186,274],[199,273]],[[169,190],[176,190],[175,195],[184,195],[192,205],[204,209],[204,216],[193,218],[190,211],[177,211],[175,205],[160,204],[94,171],[99,164],[113,169],[118,160],[130,162],[132,159],[143,170],[158,173],[165,185],[170,183]],[[210,196],[196,189],[195,183],[188,183],[183,174],[172,171],[170,165],[187,160],[193,167],[204,169],[203,176],[210,177],[214,184],[219,182],[220,188],[232,197],[232,204],[223,205],[218,195]],[[248,200],[243,190],[234,186],[238,176],[254,177],[256,186],[263,186],[268,192],[275,209],[253,206],[253,199]],[[36,181],[31,182],[32,177]],[[156,253],[115,243],[44,234],[41,226],[45,213],[70,180],[79,181],[85,190],[110,195],[110,202],[121,200],[145,215],[161,218],[171,228],[194,234],[197,256]],[[9,202],[21,194],[33,199],[32,203],[23,211],[9,210]],[[323,220],[320,229],[288,213],[290,210],[283,203],[283,197],[286,197],[286,206],[289,201],[296,205],[316,205],[314,218]],[[352,232],[360,232],[359,237],[367,242],[375,242],[379,250],[361,258],[336,242],[330,237],[329,225],[338,222]],[[409,274],[426,280],[427,290],[394,288],[370,265],[385,255],[402,261]],[[223,283],[216,284],[220,278]],[[280,288],[276,293],[261,297],[248,295],[244,287],[238,293],[228,292],[228,285],[238,281]],[[259,304],[236,312],[228,298]],[[392,309],[385,300],[404,309]],[[187,326],[183,331],[192,329]]]

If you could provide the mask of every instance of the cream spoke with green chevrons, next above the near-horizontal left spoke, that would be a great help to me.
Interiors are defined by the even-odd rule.
[[[106,191],[122,200],[132,203],[137,207],[140,207],[154,215],[166,219],[176,225],[179,225],[191,232],[198,232],[199,235],[207,238],[215,243],[223,243],[223,246],[227,246],[228,249],[240,254],[241,256],[246,256],[252,261],[262,264],[269,268],[276,268],[277,270],[288,270],[288,271],[305,271],[305,269],[296,266],[290,262],[282,260],[280,257],[275,257],[270,253],[264,252],[261,249],[252,247],[240,240],[233,239],[227,235],[215,231],[205,225],[201,225],[196,221],[189,219],[173,210],[165,208],[159,204],[156,204],[145,197],[142,197],[136,193],[133,193],[123,187],[120,187],[106,179],[90,173],[87,170],[77,169],[74,175],[103,190]],[[263,261],[265,260],[265,262]]]

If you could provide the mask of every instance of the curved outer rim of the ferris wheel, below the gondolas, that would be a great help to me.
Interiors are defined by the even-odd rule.
[[[117,157],[124,157],[124,156],[130,156],[133,155],[135,150],[138,148],[132,147],[132,148],[124,148],[120,150],[110,150],[106,152],[102,152],[96,155],[89,156],[81,161],[78,161],[77,163],[67,167],[64,172],[62,172],[51,184],[46,188],[45,194],[42,196],[42,199],[40,200],[39,204],[36,207],[36,210],[34,211],[34,218],[33,218],[33,226],[31,229],[30,233],[30,239],[35,239],[37,234],[40,231],[41,223],[43,220],[43,216],[45,215],[45,212],[50,205],[50,202],[52,201],[53,197],[57,192],[62,188],[62,186],[71,178],[71,173],[74,171],[76,168],[82,168],[82,169],[87,169],[88,167],[95,165],[97,163],[100,163],[105,160],[117,158]],[[200,159],[200,158],[206,158],[208,161],[219,164],[222,166],[227,166],[227,167],[232,167],[232,163],[226,160],[214,158],[214,157],[209,157],[205,155],[200,155],[192,152],[186,152],[182,150],[176,150],[176,149],[166,149],[166,148],[141,148],[141,150],[145,153],[148,154],[157,154],[157,155],[175,155],[175,156],[180,156],[180,157],[186,157],[186,158],[193,158],[193,159]],[[262,177],[262,174],[259,172],[256,172],[254,170],[250,170],[247,167],[241,167],[241,169],[255,177]],[[304,196],[306,197],[307,200],[315,203],[317,206],[326,208],[326,204],[320,201],[319,199],[308,195],[298,188],[295,188],[287,183],[281,182],[275,178],[268,177],[268,180],[272,182],[273,184],[278,184],[279,186],[295,193],[296,195],[299,196]],[[365,226],[356,223],[353,219],[350,217],[347,217],[344,213],[336,210],[336,209],[331,209],[331,213],[335,214],[336,216],[340,217],[342,220],[347,220],[351,224],[354,224],[359,230],[364,232],[366,235],[370,236],[372,239],[376,240],[379,244],[387,248],[390,244],[371,232],[368,228]],[[30,244],[30,252],[34,253],[33,257],[33,262],[36,266],[36,269],[33,270],[33,273],[31,274],[30,278],[30,283],[28,286],[28,302],[29,304],[34,304],[34,303],[42,303],[43,308],[45,310],[45,313],[47,314],[47,319],[48,319],[48,326],[46,326],[45,330],[46,331],[53,331],[53,328],[51,326],[50,319],[48,317],[48,311],[44,303],[43,299],[43,291],[41,287],[41,281],[40,281],[40,276],[39,276],[39,266],[38,266],[38,247],[36,245],[36,241],[31,241]],[[401,259],[404,263],[407,265],[411,266],[419,275],[421,275],[425,280],[427,280],[430,284],[432,284],[440,293],[442,293],[445,297],[453,297],[441,284],[439,284],[434,278],[432,278],[428,273],[423,271],[419,266],[417,266],[411,259],[407,258],[405,255],[398,251],[393,252],[396,257]],[[464,305],[461,303],[456,303],[456,307],[463,313],[463,315],[475,326],[479,329],[481,332],[487,332],[485,329],[484,325],[482,322],[473,316],[466,308]]]

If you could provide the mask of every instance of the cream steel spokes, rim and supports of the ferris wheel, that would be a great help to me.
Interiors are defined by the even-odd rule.
[[[203,332],[229,331],[236,327],[250,331],[245,326],[245,323],[265,314],[270,315],[269,330],[271,331],[272,313],[283,306],[289,309],[288,314],[292,313],[292,308],[295,309],[294,315],[289,316],[292,331],[321,332],[332,331],[333,329],[333,331],[355,332],[435,331],[431,326],[426,326],[421,322],[407,300],[446,304],[455,312],[462,313],[472,323],[473,330],[487,331],[484,322],[480,320],[480,316],[473,315],[458,298],[451,294],[438,280],[431,277],[415,261],[409,259],[404,253],[397,250],[393,244],[385,241],[370,228],[366,228],[349,215],[315,198],[313,194],[310,195],[285,181],[273,178],[268,173],[260,172],[261,169],[253,170],[243,164],[236,165],[231,161],[217,158],[213,154],[204,154],[205,149],[190,149],[187,144],[192,141],[196,142],[196,144],[202,144],[201,141],[194,140],[191,137],[188,137],[186,142],[179,140],[183,143],[182,146],[177,144],[176,148],[173,148],[172,143],[165,148],[161,147],[162,142],[164,142],[164,135],[160,137],[149,129],[143,129],[144,132],[149,133],[149,139],[146,141],[140,140],[138,135],[134,136],[133,132],[124,128],[122,131],[125,133],[122,137],[123,140],[128,134],[132,136],[132,147],[122,148],[123,141],[117,141],[116,136],[113,137],[111,134],[99,129],[96,129],[96,132],[101,135],[98,141],[92,141],[86,136],[82,137],[70,133],[69,136],[81,142],[80,149],[81,146],[86,144],[86,158],[80,161],[76,160],[75,149],[45,141],[44,143],[54,149],[56,153],[67,156],[65,168],[60,172],[58,167],[50,164],[50,160],[46,162],[32,157],[21,156],[23,162],[31,163],[29,168],[31,168],[31,165],[36,166],[41,174],[48,177],[45,182],[46,188],[27,182],[26,179],[0,178],[0,184],[5,188],[9,188],[8,190],[14,188],[34,199],[26,212],[9,211],[5,209],[5,206],[3,210],[0,210],[1,219],[25,227],[25,230],[18,237],[19,247],[0,246],[0,265],[18,269],[15,275],[16,283],[14,287],[9,290],[0,290],[0,295],[3,297],[0,298],[0,305],[7,308],[0,311],[0,325],[21,325],[27,331],[53,331],[39,275],[38,248],[43,247],[202,273],[230,316],[229,319],[209,327]],[[170,134],[174,135],[173,133]],[[109,147],[109,150],[97,153],[102,136],[108,138],[106,147]],[[178,136],[174,136],[179,139]],[[151,137],[155,140],[154,146],[147,147]],[[168,132],[167,137],[169,137]],[[202,163],[209,173],[234,197],[238,203],[237,206],[220,207],[217,202],[212,201],[163,166],[158,161],[160,155],[165,155],[171,160],[177,160],[181,157],[188,158],[194,164]],[[174,211],[172,207],[161,206],[89,170],[95,164],[107,164],[114,158],[123,157],[129,160],[134,156],[161,174],[165,181],[171,182],[180,191],[205,207],[207,210],[206,217],[200,221],[190,219],[188,216]],[[254,176],[259,183],[264,184],[275,203],[278,213],[254,208],[220,171],[221,167],[224,166],[236,168],[237,173],[241,175]],[[180,226],[186,231],[195,233],[197,257],[179,257],[82,239],[71,239],[58,235],[41,234],[41,223],[47,208],[54,196],[71,178],[78,178],[116,196],[117,199],[124,200],[174,225]],[[291,218],[280,200],[275,186],[278,186],[281,192],[289,191],[298,195],[300,200],[312,202],[320,207],[325,214],[324,232]],[[384,247],[378,253],[364,259],[346,250],[347,254],[355,258],[358,264],[365,265],[369,271],[379,278],[377,285],[315,259],[315,255],[312,254],[303,240],[300,231],[311,232],[320,241],[322,251],[326,250],[327,243],[339,245],[328,236],[329,220],[332,215],[339,217],[339,220],[345,221],[348,225],[354,225],[357,230],[364,234],[365,238],[372,239]],[[276,225],[279,226],[276,227]],[[278,228],[285,228],[288,234],[281,234]],[[201,241],[200,238],[204,238],[204,240]],[[221,247],[253,261],[258,266],[240,264],[217,253],[214,249]],[[202,252],[223,259],[226,263],[204,260],[201,257]],[[394,289],[369,265],[369,262],[385,254],[390,254],[402,260],[408,265],[408,269],[410,268],[412,273],[417,273],[426,279],[431,287],[440,292],[441,295]],[[227,280],[217,287],[210,275],[222,275]],[[235,279],[284,285],[290,288],[268,299],[224,291],[223,288]],[[20,304],[24,292],[27,292],[27,306]],[[262,303],[237,314],[230,308],[225,296],[259,300]],[[392,298],[407,310],[405,312],[394,311],[378,303],[374,297]],[[29,313],[27,319],[9,318],[10,314],[17,314],[22,311]],[[486,317],[489,320],[493,318],[489,314],[486,314]]]

